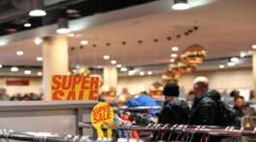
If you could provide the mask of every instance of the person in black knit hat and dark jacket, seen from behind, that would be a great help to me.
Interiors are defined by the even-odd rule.
[[[165,99],[164,106],[160,111],[158,123],[161,124],[187,124],[189,107],[185,101],[178,100],[180,95],[179,85],[177,83],[167,83],[163,88]],[[169,137],[169,132],[161,133],[161,137],[165,139]],[[171,139],[175,139],[176,134],[172,134]]]

